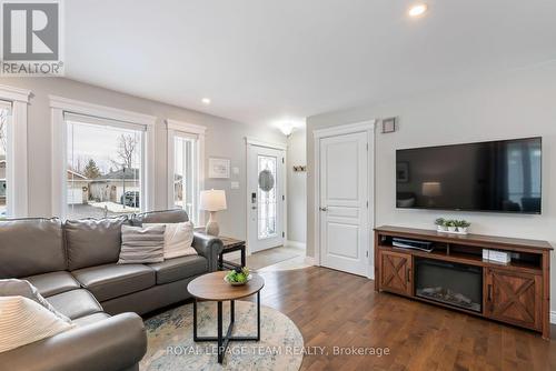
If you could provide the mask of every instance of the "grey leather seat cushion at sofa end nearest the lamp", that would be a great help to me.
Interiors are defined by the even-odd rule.
[[[149,267],[157,272],[157,284],[179,281],[208,271],[207,259],[199,255],[168,259]]]

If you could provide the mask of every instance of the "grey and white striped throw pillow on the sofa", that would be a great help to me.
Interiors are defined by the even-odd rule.
[[[165,261],[165,225],[121,225],[118,264],[159,263]]]

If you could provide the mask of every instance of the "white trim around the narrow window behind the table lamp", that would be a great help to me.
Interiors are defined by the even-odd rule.
[[[188,123],[177,120],[166,120],[168,127],[168,208],[173,209],[173,138],[176,136],[187,136],[197,140],[197,163],[195,163],[193,172],[197,176],[197,184],[193,184],[195,198],[193,198],[193,210],[197,215],[189,215],[191,220],[196,220],[198,223],[205,224],[205,212],[199,210],[199,199],[200,192],[205,189],[205,134],[207,131],[206,127],[198,126],[195,123]]]

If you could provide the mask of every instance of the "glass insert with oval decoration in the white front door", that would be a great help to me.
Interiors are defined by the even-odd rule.
[[[259,240],[277,235],[277,158],[259,154],[258,163],[258,232]]]

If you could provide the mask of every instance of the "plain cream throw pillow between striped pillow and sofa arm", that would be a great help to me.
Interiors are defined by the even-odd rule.
[[[165,231],[165,259],[186,255],[197,255],[191,244],[193,243],[193,223],[143,223],[143,227],[166,225]]]

